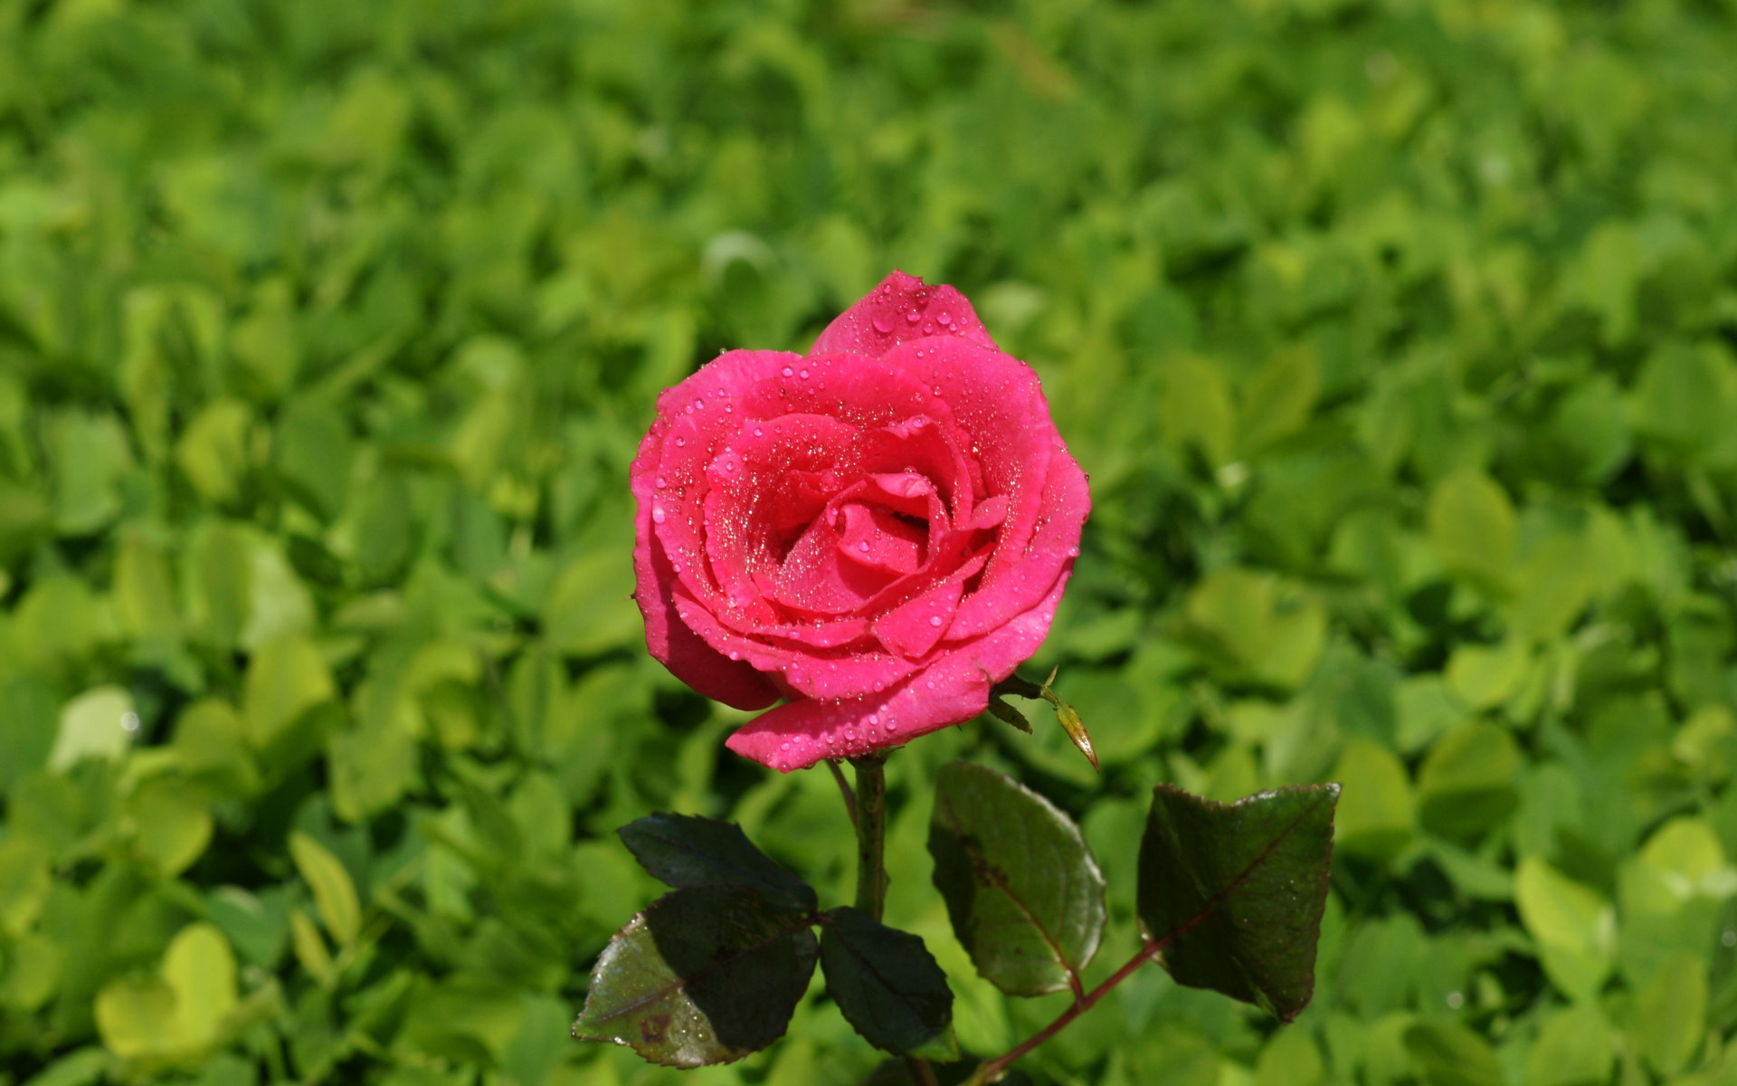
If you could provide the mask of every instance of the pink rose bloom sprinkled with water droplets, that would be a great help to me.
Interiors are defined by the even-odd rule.
[[[730,351],[667,389],[632,490],[651,655],[738,709],[783,699],[730,737],[783,771],[981,712],[1091,509],[1037,374],[900,271],[808,356]]]

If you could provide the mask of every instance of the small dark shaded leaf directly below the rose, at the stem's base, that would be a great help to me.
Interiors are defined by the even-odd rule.
[[[851,907],[822,917],[820,968],[827,990],[875,1048],[926,1060],[957,1060],[954,992],[915,935]]]

